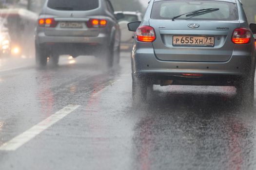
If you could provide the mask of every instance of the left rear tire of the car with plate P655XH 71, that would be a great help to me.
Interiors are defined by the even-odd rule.
[[[133,103],[140,104],[147,100],[147,83],[143,79],[133,78]]]

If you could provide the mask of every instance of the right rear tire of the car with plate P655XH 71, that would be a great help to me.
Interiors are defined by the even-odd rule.
[[[252,107],[254,105],[254,78],[242,79],[236,86],[236,95],[239,104]]]

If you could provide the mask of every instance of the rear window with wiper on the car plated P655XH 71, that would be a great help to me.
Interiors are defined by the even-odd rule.
[[[186,15],[177,19],[193,20],[237,20],[238,12],[235,3],[211,0],[164,0],[157,1],[153,5],[152,19],[172,19],[181,14],[196,10],[218,8],[219,10],[207,14],[186,17]]]

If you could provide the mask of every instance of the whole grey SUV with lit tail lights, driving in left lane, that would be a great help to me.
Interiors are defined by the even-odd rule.
[[[112,67],[119,62],[120,30],[110,0],[46,0],[36,29],[36,62],[59,56],[95,55]]]

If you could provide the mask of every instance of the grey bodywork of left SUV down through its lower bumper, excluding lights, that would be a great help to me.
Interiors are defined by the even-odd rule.
[[[103,49],[118,51],[120,46],[120,30],[114,9],[109,0],[98,0],[98,7],[90,10],[53,9],[46,0],[40,18],[54,18],[56,27],[37,27],[36,46],[52,53],[79,55],[96,54]],[[61,3],[59,3],[61,6]],[[104,28],[89,28],[90,19],[104,19]],[[81,28],[61,28],[61,22],[79,22]],[[105,51],[106,52],[106,51]],[[104,53],[104,52],[103,52]]]

